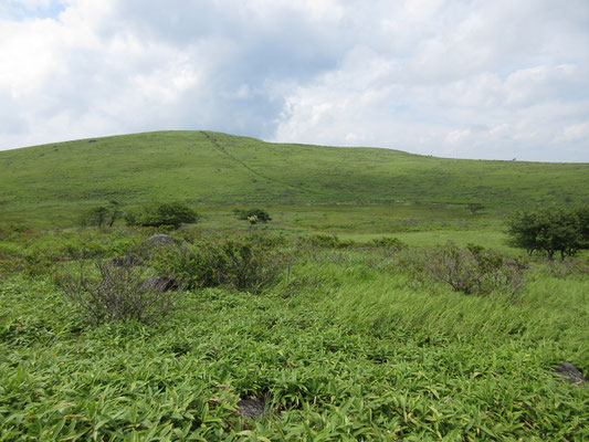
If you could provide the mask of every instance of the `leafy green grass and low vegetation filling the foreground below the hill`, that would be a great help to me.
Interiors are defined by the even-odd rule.
[[[2,440],[589,438],[587,388],[553,372],[562,361],[589,372],[583,255],[528,259],[525,284],[488,291],[503,260],[522,256],[393,238],[227,239],[179,229],[155,245],[157,230],[145,228],[8,232]],[[421,266],[442,252],[465,263],[466,276],[482,272],[485,290],[423,277]],[[271,255],[284,259],[264,260]],[[75,278],[81,261],[129,256],[123,269],[173,274],[193,288],[180,286],[157,322],[92,325],[67,296],[65,275]],[[194,269],[208,272],[194,277]],[[111,293],[104,274],[88,277]],[[243,399],[264,401],[270,414],[242,418]]]

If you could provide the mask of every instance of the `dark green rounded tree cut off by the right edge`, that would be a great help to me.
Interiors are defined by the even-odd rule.
[[[547,207],[536,211],[519,211],[507,222],[508,233],[515,246],[528,254],[555,253],[560,259],[575,256],[579,250],[589,249],[589,207]]]

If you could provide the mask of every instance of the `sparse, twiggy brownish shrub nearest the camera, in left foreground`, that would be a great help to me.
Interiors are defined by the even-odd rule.
[[[77,276],[61,276],[59,281],[93,325],[133,319],[154,324],[170,312],[177,299],[178,291],[169,291],[169,278],[146,278],[143,267],[104,261],[95,266],[97,277],[87,275],[82,261]]]

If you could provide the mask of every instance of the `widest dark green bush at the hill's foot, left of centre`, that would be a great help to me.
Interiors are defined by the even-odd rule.
[[[128,225],[161,227],[178,229],[182,223],[197,222],[198,214],[183,202],[155,202],[125,214]]]

